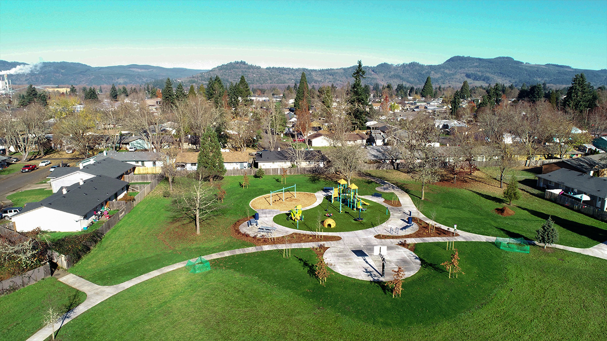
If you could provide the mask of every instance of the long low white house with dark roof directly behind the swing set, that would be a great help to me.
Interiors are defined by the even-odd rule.
[[[300,157],[296,157],[300,154]],[[320,150],[265,150],[255,155],[256,168],[290,168],[300,159],[300,167],[324,167],[328,162]]]

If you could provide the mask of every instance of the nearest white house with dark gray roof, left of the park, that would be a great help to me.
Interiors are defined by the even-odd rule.
[[[27,203],[19,214],[10,220],[16,231],[32,231],[41,228],[46,231],[75,232],[92,223],[95,214],[108,201],[118,200],[129,190],[129,183],[117,178],[96,175],[81,180],[71,186],[36,203]]]

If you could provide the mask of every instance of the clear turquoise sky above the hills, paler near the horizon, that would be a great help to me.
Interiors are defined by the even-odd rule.
[[[455,55],[607,69],[607,0],[0,0],[8,61],[327,68]]]

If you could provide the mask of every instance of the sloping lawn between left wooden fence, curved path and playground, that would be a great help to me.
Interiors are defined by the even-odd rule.
[[[226,177],[216,182],[225,189],[226,197],[217,215],[202,223],[200,235],[195,234],[191,221],[180,219],[172,210],[171,199],[162,195],[168,191],[168,183],[163,181],[69,271],[99,285],[114,285],[198,255],[246,248],[252,245],[231,237],[230,228],[240,218],[254,214],[249,207],[253,198],[294,183],[302,192],[336,184],[305,175],[289,176],[287,185],[280,183],[279,176],[249,176],[249,187],[243,189],[242,179]],[[191,182],[186,178],[175,181],[176,188]],[[372,194],[378,186],[363,179],[356,183],[361,195]]]

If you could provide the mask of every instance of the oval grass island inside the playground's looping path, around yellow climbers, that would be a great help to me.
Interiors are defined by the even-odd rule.
[[[304,220],[299,221],[299,229],[304,231],[317,231],[317,228],[321,226],[321,232],[347,232],[356,231],[362,229],[373,228],[374,226],[381,225],[384,221],[390,218],[390,213],[386,215],[386,208],[381,204],[373,201],[365,201],[369,205],[363,205],[367,208],[367,211],[361,212],[362,221],[356,221],[354,218],[358,218],[358,210],[353,211],[348,206],[342,205],[342,212],[339,213],[339,203],[334,201],[331,203],[330,200],[325,199],[319,206],[315,208],[304,210]],[[328,212],[325,209],[328,207]],[[326,217],[325,214],[333,214],[331,217]],[[335,221],[335,228],[328,229],[322,227],[321,221],[331,218]],[[287,228],[297,229],[297,222],[293,221],[290,214],[279,214],[274,217],[274,223],[278,225],[286,226]]]

